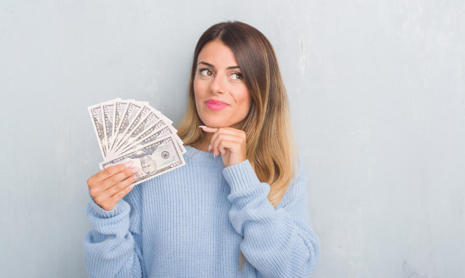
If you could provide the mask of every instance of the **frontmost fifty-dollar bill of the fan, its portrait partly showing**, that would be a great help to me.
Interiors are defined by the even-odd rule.
[[[174,135],[162,137],[141,148],[123,154],[111,161],[100,163],[101,169],[106,169],[120,163],[132,162],[140,169],[140,177],[134,182],[138,185],[146,180],[162,175],[168,171],[186,165],[181,150],[177,148]]]

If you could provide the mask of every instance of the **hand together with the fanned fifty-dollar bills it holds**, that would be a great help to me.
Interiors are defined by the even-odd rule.
[[[172,121],[147,102],[117,98],[88,110],[104,159],[88,185],[102,208],[113,208],[131,186],[186,165]]]

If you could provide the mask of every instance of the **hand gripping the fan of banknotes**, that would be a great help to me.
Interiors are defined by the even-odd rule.
[[[89,193],[93,201],[104,210],[112,210],[134,187],[132,183],[139,179],[139,168],[131,162],[110,166],[87,180]]]

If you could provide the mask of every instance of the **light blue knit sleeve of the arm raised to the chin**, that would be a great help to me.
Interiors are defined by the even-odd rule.
[[[244,238],[240,250],[263,277],[308,277],[320,260],[320,241],[307,208],[307,176],[300,161],[296,182],[275,208],[270,185],[261,183],[249,160],[222,171],[231,194],[229,217]]]

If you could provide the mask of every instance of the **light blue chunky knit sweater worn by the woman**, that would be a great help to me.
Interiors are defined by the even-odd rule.
[[[185,148],[185,166],[136,185],[113,210],[89,194],[93,229],[82,247],[90,277],[308,277],[320,241],[302,161],[274,208],[248,160],[225,168],[221,155]]]

